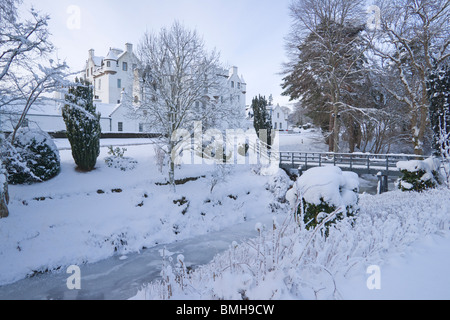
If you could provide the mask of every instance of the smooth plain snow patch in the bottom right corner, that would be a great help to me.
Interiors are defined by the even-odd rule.
[[[450,234],[417,240],[390,257],[380,269],[378,289],[369,290],[370,276],[360,272],[339,279],[337,286],[348,300],[450,300]]]

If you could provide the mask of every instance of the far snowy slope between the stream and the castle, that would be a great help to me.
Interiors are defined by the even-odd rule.
[[[171,243],[255,219],[277,206],[273,177],[235,166],[211,192],[213,166],[184,166],[172,192],[150,145],[129,146],[131,171],[109,168],[102,148],[96,170],[79,173],[61,150],[61,173],[45,183],[10,186],[10,217],[0,220],[0,285],[69,265]],[[195,180],[197,179],[198,180]]]

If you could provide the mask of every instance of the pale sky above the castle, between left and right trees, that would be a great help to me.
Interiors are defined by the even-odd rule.
[[[254,96],[273,94],[274,103],[288,106],[281,96],[286,61],[284,38],[289,32],[291,0],[25,0],[51,17],[51,41],[58,57],[74,70],[84,68],[88,50],[106,56],[110,47],[135,46],[143,34],[158,32],[174,20],[196,29],[206,45],[221,53],[225,65],[239,67],[247,82],[247,104]],[[79,28],[68,12],[79,8]],[[69,22],[69,26],[68,26]]]

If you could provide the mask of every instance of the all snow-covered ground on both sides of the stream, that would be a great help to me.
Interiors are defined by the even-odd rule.
[[[450,299],[449,190],[361,195],[354,228],[344,224],[327,242],[311,241],[305,250],[310,234],[289,220],[283,196],[290,181],[283,172],[261,175],[251,166],[235,166],[211,191],[213,166],[184,165],[176,179],[198,179],[172,192],[161,185],[167,174],[158,170],[151,143],[102,141],[97,168],[80,173],[67,141],[57,140],[62,171],[56,178],[10,186],[10,217],[0,220],[0,291],[2,285],[69,265],[125,259],[143,248],[273,216],[275,231],[266,223],[259,238],[234,246],[186,277],[195,290],[176,289],[174,283],[167,297],[166,286],[154,282],[133,299]],[[282,135],[280,143],[286,151],[326,150],[311,132]],[[108,145],[126,145],[125,156],[137,160],[136,168],[109,168],[104,162]],[[229,239],[230,246],[235,240]],[[258,246],[267,259],[261,260]],[[172,258],[173,272],[177,258],[189,260]],[[371,265],[380,267],[380,290],[366,285]]]

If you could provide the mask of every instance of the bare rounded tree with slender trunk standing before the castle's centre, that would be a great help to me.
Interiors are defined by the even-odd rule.
[[[140,107],[152,130],[161,134],[161,150],[169,157],[169,183],[175,185],[178,134],[193,131],[194,123],[217,124],[233,96],[224,93],[219,54],[208,52],[196,31],[175,22],[158,34],[147,33],[138,47],[141,62]],[[183,131],[184,130],[184,131]]]

